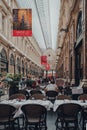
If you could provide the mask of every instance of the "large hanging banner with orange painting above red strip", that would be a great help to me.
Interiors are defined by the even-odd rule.
[[[32,36],[31,9],[13,9],[13,36]]]

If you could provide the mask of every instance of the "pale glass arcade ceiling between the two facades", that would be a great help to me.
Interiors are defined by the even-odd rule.
[[[17,0],[21,8],[32,9],[32,31],[42,50],[57,44],[60,0]]]

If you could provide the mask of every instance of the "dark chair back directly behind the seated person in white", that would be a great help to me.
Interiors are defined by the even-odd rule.
[[[58,92],[57,91],[54,91],[54,90],[49,90],[49,91],[46,91],[46,97],[48,100],[54,102],[56,97],[58,95]]]

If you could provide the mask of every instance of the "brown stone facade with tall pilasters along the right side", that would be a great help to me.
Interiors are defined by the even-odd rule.
[[[86,4],[86,0],[61,0],[60,8],[56,72],[77,86],[87,81]]]

